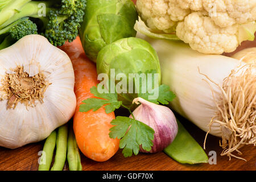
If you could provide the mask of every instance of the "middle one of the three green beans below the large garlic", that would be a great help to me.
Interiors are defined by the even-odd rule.
[[[67,159],[68,125],[60,126],[57,133],[56,154],[51,171],[62,171]]]

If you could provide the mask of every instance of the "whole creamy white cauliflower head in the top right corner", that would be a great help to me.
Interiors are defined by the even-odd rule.
[[[256,30],[256,0],[137,0],[137,10],[152,31],[175,30],[179,39],[203,53],[236,50],[242,24],[254,23],[251,30]]]

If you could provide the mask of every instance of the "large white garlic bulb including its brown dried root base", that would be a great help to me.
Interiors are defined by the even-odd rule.
[[[71,60],[40,35],[0,51],[0,146],[17,148],[48,137],[76,107]]]

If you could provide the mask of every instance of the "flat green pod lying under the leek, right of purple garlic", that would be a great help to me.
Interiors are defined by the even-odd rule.
[[[177,119],[176,121],[178,133],[174,141],[168,147],[164,148],[164,152],[179,163],[208,163],[208,156],[205,154],[203,148]]]

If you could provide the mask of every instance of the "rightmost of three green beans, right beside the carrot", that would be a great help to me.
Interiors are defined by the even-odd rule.
[[[77,147],[73,127],[68,132],[68,166],[70,171],[82,171],[79,148]]]

